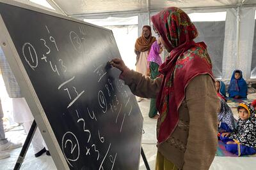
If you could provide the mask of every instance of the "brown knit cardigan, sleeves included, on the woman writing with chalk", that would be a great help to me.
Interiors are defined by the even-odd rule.
[[[156,98],[159,93],[160,77],[151,80],[136,71],[125,71],[120,78],[136,96]],[[179,169],[209,169],[218,145],[219,109],[220,99],[211,76],[202,74],[193,78],[186,87],[186,97],[179,108],[179,124],[170,138],[157,144],[158,152]]]

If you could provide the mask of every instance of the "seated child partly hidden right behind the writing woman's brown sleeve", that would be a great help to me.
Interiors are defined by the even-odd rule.
[[[225,84],[223,83],[223,81],[216,80],[215,86],[221,104],[220,113],[218,113],[218,132],[232,132],[235,129],[234,115],[232,113],[232,110],[226,103],[227,97]],[[218,134],[218,136],[220,137],[220,133]]]

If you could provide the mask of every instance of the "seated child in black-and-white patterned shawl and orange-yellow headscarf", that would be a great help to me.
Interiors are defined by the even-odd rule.
[[[256,118],[252,104],[240,103],[237,107],[239,119],[234,132],[221,133],[221,141],[228,152],[238,156],[256,153]]]

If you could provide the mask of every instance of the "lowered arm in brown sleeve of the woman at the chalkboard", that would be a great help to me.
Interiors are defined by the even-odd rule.
[[[184,170],[209,169],[214,159],[217,141],[220,99],[211,76],[196,76],[186,88],[189,111],[189,136],[184,155]]]

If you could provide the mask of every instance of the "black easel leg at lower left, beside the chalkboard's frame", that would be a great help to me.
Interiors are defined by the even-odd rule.
[[[24,145],[22,146],[22,149],[20,151],[20,155],[19,155],[19,157],[17,159],[17,162],[16,162],[15,167],[13,168],[13,170],[19,170],[20,169],[20,166],[21,166],[22,162],[24,161],[24,158],[25,158],[26,153],[28,151],[28,148],[29,148],[29,145],[31,143],[31,140],[32,140],[32,138],[33,138],[33,136],[35,134],[36,127],[37,127],[37,125],[36,125],[36,122],[34,120],[32,125],[31,125],[31,127],[30,127],[30,129],[29,129],[28,136],[27,136],[27,138],[25,140]]]

